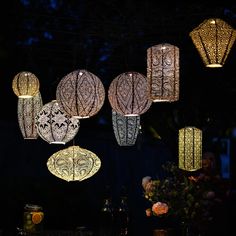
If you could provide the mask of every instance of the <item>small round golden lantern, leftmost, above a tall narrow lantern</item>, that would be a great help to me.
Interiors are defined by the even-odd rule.
[[[31,72],[18,73],[12,81],[12,89],[20,98],[30,98],[39,92],[39,80]]]

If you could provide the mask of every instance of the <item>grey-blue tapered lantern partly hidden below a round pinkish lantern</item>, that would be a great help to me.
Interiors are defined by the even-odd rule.
[[[140,116],[123,116],[112,110],[112,124],[116,141],[120,146],[135,145],[140,128]]]

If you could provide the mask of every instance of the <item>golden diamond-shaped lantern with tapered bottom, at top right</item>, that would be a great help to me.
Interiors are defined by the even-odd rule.
[[[222,67],[236,39],[236,31],[221,19],[204,20],[190,32],[207,67]]]

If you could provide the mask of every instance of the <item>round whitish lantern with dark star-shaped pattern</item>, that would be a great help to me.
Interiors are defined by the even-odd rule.
[[[77,134],[79,126],[79,119],[70,118],[61,111],[56,100],[45,104],[36,116],[37,132],[50,144],[69,142]]]

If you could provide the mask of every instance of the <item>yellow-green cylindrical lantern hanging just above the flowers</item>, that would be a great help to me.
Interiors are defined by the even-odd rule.
[[[196,171],[202,167],[202,131],[195,127],[179,130],[179,168]]]

